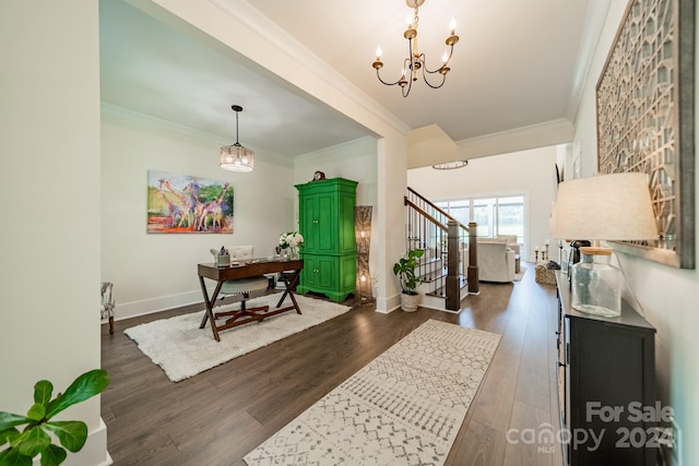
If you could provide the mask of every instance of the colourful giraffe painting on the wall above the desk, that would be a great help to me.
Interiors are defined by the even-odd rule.
[[[149,170],[147,232],[232,234],[228,182]]]

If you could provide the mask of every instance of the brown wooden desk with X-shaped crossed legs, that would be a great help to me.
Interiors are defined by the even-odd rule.
[[[296,302],[296,298],[294,298],[293,288],[298,283],[298,275],[301,268],[304,268],[303,260],[287,261],[284,259],[252,259],[248,261],[239,261],[239,265],[230,265],[227,267],[216,266],[215,263],[199,264],[199,284],[201,285],[201,292],[204,296],[204,303],[206,304],[206,313],[204,314],[204,318],[202,319],[201,325],[199,327],[203,328],[204,325],[206,325],[206,320],[209,320],[211,322],[211,331],[214,334],[214,338],[216,338],[216,342],[220,342],[218,332],[223,330],[247,324],[248,322],[261,321],[262,319],[270,315],[279,314],[294,309],[296,310],[296,313],[300,314],[301,310]],[[226,320],[223,325],[216,325],[216,319],[214,318],[213,308],[215,306],[216,299],[218,298],[221,287],[225,280],[254,277],[276,272],[286,272],[282,274],[282,279],[284,282],[284,285],[286,286],[286,289],[284,290],[280,302],[276,303],[276,309],[264,312],[246,312],[241,315],[236,315]],[[204,278],[216,282],[216,287],[214,288],[214,292],[211,295],[211,297],[209,297],[209,291],[206,290]],[[291,298],[293,306],[282,308],[282,302],[287,295]]]

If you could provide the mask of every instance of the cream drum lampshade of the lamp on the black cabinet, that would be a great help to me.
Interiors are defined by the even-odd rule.
[[[565,181],[552,214],[561,239],[656,239],[657,227],[645,174],[599,175]]]

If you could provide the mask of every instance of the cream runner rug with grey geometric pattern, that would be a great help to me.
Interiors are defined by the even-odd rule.
[[[500,336],[427,321],[245,456],[257,465],[441,465]]]

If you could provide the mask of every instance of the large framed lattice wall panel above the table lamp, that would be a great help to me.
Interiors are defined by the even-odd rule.
[[[596,86],[597,170],[647,174],[657,239],[615,249],[695,268],[695,0],[630,0]]]

